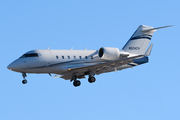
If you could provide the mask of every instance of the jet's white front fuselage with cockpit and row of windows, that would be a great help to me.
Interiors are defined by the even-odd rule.
[[[84,67],[105,62],[98,57],[97,50],[32,50],[24,55],[37,53],[38,56],[22,56],[8,68],[24,73],[61,74],[69,68]]]

